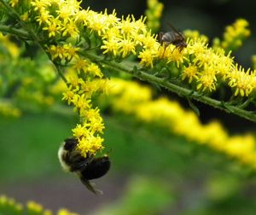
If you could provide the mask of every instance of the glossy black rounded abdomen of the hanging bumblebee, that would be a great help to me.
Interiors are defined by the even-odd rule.
[[[110,160],[108,156],[91,160],[86,168],[81,171],[81,177],[87,180],[96,179],[104,176],[110,168]]]

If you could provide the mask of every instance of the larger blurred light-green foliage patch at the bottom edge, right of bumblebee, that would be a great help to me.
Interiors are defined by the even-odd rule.
[[[169,186],[159,179],[147,177],[131,178],[123,198],[111,206],[103,207],[98,215],[160,214],[172,206],[174,197]]]

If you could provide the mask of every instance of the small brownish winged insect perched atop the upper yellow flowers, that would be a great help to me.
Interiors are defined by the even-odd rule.
[[[172,28],[172,31],[159,33],[160,44],[161,45],[164,44],[165,47],[167,47],[170,44],[174,44],[180,51],[182,51],[188,45],[185,41],[183,33],[180,31],[177,31],[177,29],[172,25],[170,24],[168,25]]]

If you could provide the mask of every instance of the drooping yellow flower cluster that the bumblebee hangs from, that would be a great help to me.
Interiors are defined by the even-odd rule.
[[[81,78],[86,77],[86,74],[90,75]],[[106,80],[94,78],[95,76],[102,76],[96,64],[87,61],[79,73],[74,65],[67,75],[67,91],[63,93],[63,100],[73,105],[74,110],[79,113],[81,123],[73,129],[73,137],[79,140],[78,149],[84,157],[96,154],[103,148],[103,138],[99,135],[103,133],[104,124],[99,108],[93,108],[91,100],[94,95],[106,89]]]

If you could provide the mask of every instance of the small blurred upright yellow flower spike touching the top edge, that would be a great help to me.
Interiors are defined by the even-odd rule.
[[[164,9],[164,4],[158,0],[148,0],[148,9],[145,12],[147,17],[147,26],[152,32],[158,32],[160,29],[160,18]]]

